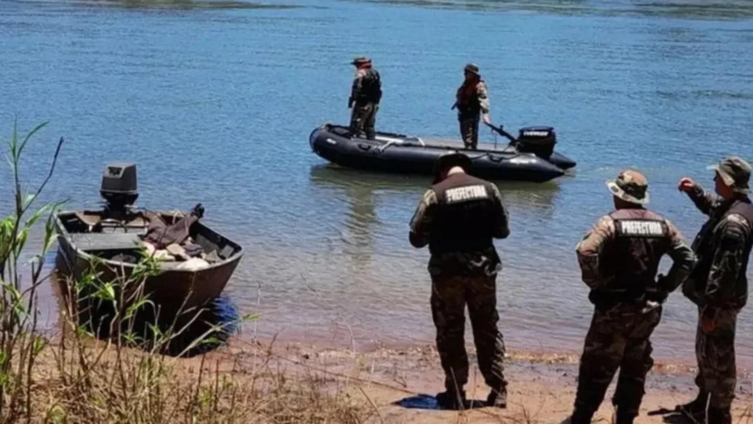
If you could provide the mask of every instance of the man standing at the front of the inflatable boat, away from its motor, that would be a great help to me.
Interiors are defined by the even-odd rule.
[[[373,140],[376,136],[374,124],[382,99],[382,81],[377,69],[373,69],[371,59],[356,57],[351,64],[355,66],[355,78],[348,99],[348,107],[353,108],[350,132],[355,137],[365,133],[367,139]]]

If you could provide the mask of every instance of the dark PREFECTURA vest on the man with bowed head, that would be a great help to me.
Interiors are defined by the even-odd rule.
[[[467,174],[453,174],[431,187],[437,194],[436,213],[428,249],[446,252],[481,252],[493,248],[496,215],[491,183]]]

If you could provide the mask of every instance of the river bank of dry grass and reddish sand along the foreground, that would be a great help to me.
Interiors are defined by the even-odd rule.
[[[508,351],[508,408],[483,407],[488,389],[469,349],[468,410],[440,410],[444,374],[431,345],[329,349],[280,340],[230,342],[175,358],[63,331],[42,345],[28,388],[29,422],[439,424],[562,422],[578,379],[573,352]],[[688,422],[672,413],[694,398],[695,369],[657,361],[637,423]],[[738,368],[736,423],[753,420],[753,374]],[[607,392],[594,422],[613,422]]]

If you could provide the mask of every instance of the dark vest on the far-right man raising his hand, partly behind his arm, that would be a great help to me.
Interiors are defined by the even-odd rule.
[[[753,205],[748,202],[749,200],[736,200],[723,215],[718,218],[710,218],[709,221],[706,221],[706,224],[703,224],[703,227],[701,227],[698,235],[693,240],[691,247],[696,254],[697,262],[688,279],[693,282],[697,292],[703,293],[706,291],[706,282],[709,280],[709,273],[711,273],[711,266],[714,262],[717,248],[714,243],[714,233],[719,224],[724,222],[729,215],[738,214],[745,218],[745,221],[748,221],[748,225],[753,228]],[[748,270],[748,258],[750,257],[751,248],[753,248],[753,236],[748,236],[748,239],[745,240],[745,253],[742,258],[742,266],[740,267],[740,276],[738,276],[736,283],[736,295],[740,297],[741,303],[737,304],[736,307],[743,307],[748,297],[748,279],[745,276],[745,272]]]

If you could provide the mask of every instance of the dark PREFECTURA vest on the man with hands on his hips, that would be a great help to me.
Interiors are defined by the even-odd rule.
[[[593,291],[592,300],[639,299],[656,284],[659,262],[672,243],[669,228],[664,218],[646,209],[618,209],[609,216],[614,243],[600,266],[607,284]]]

